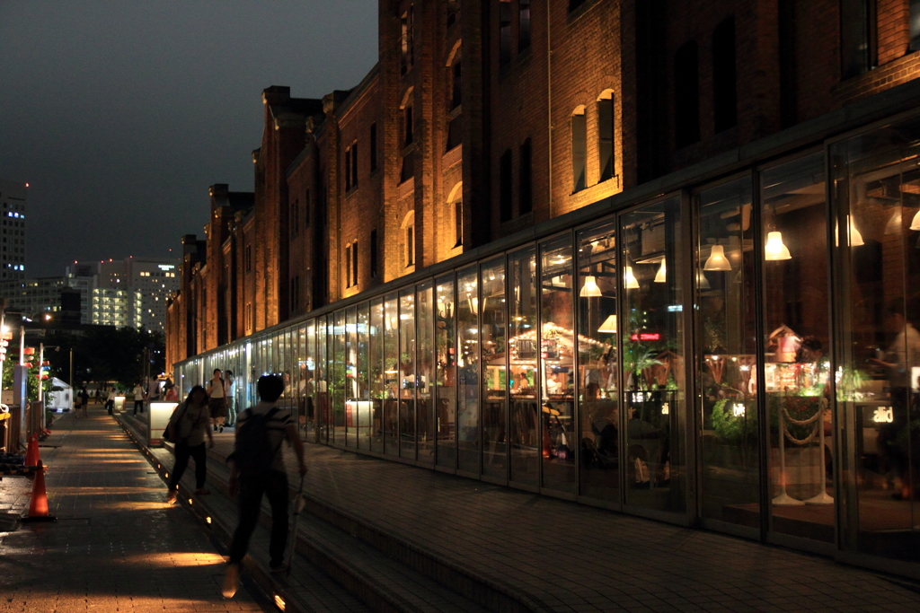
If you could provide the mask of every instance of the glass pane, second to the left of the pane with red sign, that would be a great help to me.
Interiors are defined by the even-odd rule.
[[[569,235],[540,245],[543,486],[575,494],[575,322]]]

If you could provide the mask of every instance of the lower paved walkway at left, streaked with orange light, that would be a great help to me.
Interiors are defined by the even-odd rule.
[[[0,532],[0,612],[261,611],[118,424],[67,414],[40,448],[56,523]],[[0,482],[0,490],[6,487]],[[7,508],[21,505],[13,495]]]

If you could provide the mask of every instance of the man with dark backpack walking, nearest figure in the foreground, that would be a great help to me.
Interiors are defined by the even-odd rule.
[[[284,381],[275,375],[259,378],[261,402],[236,417],[236,446],[230,463],[230,495],[236,495],[239,523],[230,545],[230,560],[224,575],[224,597],[232,598],[239,585],[240,562],[249,547],[249,538],[259,521],[262,494],[271,505],[270,570],[284,570],[284,550],[288,537],[288,479],[284,469],[282,444],[287,440],[297,455],[301,476],[306,474],[304,443],[297,436],[291,413],[275,406],[284,392]]]

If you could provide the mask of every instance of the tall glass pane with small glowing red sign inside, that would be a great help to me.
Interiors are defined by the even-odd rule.
[[[681,202],[650,204],[622,218],[625,283],[623,369],[626,380],[628,505],[684,511],[684,269]]]

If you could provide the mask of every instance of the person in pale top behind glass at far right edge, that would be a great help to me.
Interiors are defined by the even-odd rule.
[[[909,472],[908,407],[910,406],[911,371],[920,367],[920,332],[904,317],[903,301],[896,299],[888,304],[884,319],[885,332],[894,342],[884,353],[884,358],[871,361],[888,371],[891,389],[891,423],[879,425],[879,450],[888,461],[900,489],[891,494],[897,500],[911,498]]]

